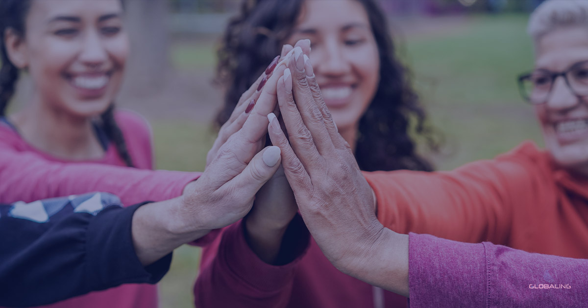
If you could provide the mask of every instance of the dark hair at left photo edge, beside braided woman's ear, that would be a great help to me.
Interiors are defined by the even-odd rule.
[[[19,69],[14,66],[4,46],[4,33],[12,29],[18,35],[25,33],[25,16],[30,0],[0,0],[0,116],[5,116],[6,107],[14,95]]]

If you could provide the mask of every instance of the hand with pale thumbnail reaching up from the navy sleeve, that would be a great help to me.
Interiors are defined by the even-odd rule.
[[[209,152],[205,171],[184,189],[183,207],[176,215],[178,232],[196,227],[222,228],[243,218],[251,209],[255,194],[278,170],[279,148],[262,148],[267,114],[276,108],[276,82],[284,69],[285,65],[278,65],[269,78],[264,73],[258,85],[243,94],[246,99],[242,98],[221,129],[218,142]],[[263,79],[266,84],[258,90]],[[246,110],[252,99],[255,103]]]

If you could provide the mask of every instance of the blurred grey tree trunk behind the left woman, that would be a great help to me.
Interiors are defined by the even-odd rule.
[[[131,54],[123,92],[144,96],[158,90],[169,71],[168,0],[126,0]]]

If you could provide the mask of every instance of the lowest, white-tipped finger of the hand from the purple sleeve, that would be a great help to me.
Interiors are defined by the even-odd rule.
[[[282,152],[282,167],[290,186],[295,193],[297,191],[305,191],[304,189],[310,187],[310,177],[308,172],[306,172],[304,165],[300,163],[300,160],[296,157],[292,147],[290,147],[288,138],[286,138],[280,127],[276,116],[270,113],[268,114],[268,120],[269,138],[272,140],[272,144],[279,147]]]

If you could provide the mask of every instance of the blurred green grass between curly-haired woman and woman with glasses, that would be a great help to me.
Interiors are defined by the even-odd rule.
[[[403,59],[447,139],[441,169],[495,157],[527,138],[541,143],[533,109],[516,84],[533,66],[526,23],[523,15],[474,16],[454,33],[407,39]]]

